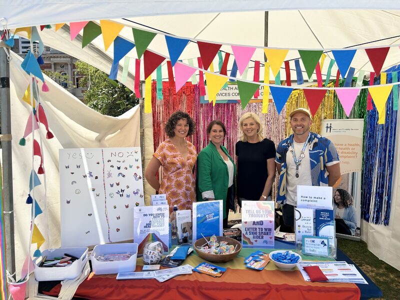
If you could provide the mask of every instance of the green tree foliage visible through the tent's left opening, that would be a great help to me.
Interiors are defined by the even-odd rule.
[[[111,116],[119,116],[139,103],[134,92],[122,83],[111,80],[103,71],[83,62],[76,61],[75,68],[79,75],[80,86],[86,86],[83,101],[90,108]]]

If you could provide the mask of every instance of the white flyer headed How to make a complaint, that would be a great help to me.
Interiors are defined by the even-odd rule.
[[[297,185],[297,207],[333,209],[332,187]]]

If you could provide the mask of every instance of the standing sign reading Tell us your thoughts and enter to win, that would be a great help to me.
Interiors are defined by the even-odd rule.
[[[243,247],[273,248],[273,201],[241,202],[241,244]]]

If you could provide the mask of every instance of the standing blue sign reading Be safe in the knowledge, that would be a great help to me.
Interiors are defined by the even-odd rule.
[[[222,200],[193,202],[193,242],[203,236],[222,236]]]

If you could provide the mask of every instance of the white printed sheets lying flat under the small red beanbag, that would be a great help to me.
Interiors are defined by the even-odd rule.
[[[317,265],[322,273],[328,278],[328,282],[351,282],[368,284],[353,264],[345,261],[301,261],[297,264],[298,269],[305,281],[311,281],[303,266]]]

